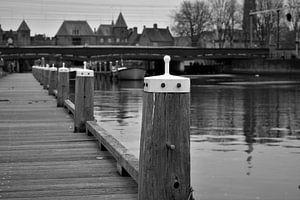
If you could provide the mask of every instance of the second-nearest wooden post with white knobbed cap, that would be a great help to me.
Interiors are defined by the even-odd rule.
[[[94,120],[94,71],[76,71],[74,131],[85,132],[86,121]]]

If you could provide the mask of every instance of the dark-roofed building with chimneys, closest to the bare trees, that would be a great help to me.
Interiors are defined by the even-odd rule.
[[[158,28],[157,24],[154,24],[153,28],[146,28],[144,26],[138,44],[140,46],[173,46],[174,38],[171,35],[169,27]]]

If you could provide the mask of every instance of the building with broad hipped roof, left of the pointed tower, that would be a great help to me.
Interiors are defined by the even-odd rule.
[[[95,45],[96,37],[87,21],[65,20],[55,35],[55,44]]]

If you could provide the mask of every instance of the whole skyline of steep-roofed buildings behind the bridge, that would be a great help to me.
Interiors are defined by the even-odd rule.
[[[65,20],[59,27],[55,37],[45,34],[30,36],[30,28],[22,21],[17,31],[4,31],[0,25],[0,46],[73,46],[73,45],[130,45],[130,46],[173,46],[174,38],[169,28],[144,27],[139,34],[137,27],[128,28],[120,12],[116,22],[100,24],[98,29],[90,27],[87,21]]]

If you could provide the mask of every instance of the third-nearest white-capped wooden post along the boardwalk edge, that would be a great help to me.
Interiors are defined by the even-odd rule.
[[[65,100],[69,98],[69,69],[63,67],[58,70],[57,107],[63,107]]]

